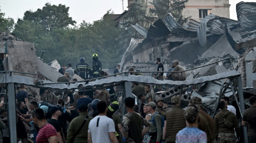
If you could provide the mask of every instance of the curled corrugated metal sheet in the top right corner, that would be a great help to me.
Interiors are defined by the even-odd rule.
[[[237,19],[243,28],[256,28],[256,3],[239,2],[236,4]]]

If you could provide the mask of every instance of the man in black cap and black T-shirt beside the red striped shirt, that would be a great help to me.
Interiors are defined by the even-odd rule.
[[[53,127],[56,129],[58,142],[63,143],[62,129],[60,123],[58,122],[58,117],[61,115],[60,108],[58,108],[57,106],[53,106],[48,112],[51,113],[51,119],[48,123],[53,125]]]

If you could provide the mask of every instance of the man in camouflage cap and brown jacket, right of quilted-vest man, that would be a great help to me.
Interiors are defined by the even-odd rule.
[[[204,131],[207,134],[207,142],[214,141],[214,121],[211,116],[202,110],[202,99],[200,97],[191,97],[188,106],[196,106],[199,110],[199,124],[198,129]]]

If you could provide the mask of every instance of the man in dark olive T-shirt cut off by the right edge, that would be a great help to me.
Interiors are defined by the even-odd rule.
[[[243,113],[242,126],[247,126],[248,142],[256,142],[256,96],[249,98],[251,107]]]

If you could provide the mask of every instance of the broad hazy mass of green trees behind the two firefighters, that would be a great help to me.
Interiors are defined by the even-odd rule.
[[[46,4],[48,7],[49,4]],[[60,5],[59,5],[60,6]],[[43,8],[44,9],[44,8]],[[43,10],[41,10],[43,11]],[[40,9],[36,12],[30,12],[24,15],[40,17]],[[59,15],[57,12],[56,15]],[[61,12],[63,13],[63,12]],[[66,13],[68,15],[68,13]],[[115,27],[111,19],[110,10],[105,16],[94,23],[83,21],[79,26],[68,27],[68,25],[54,24],[45,27],[43,22],[31,20],[33,18],[25,17],[19,19],[15,25],[13,33],[23,41],[33,42],[37,50],[47,50],[42,59],[49,63],[55,59],[60,65],[71,63],[75,66],[79,63],[79,58],[84,57],[89,65],[92,63],[92,54],[97,53],[101,60],[103,68],[113,68],[119,62],[116,54],[115,45],[118,43],[116,38],[119,36],[119,30]],[[46,17],[54,17],[45,15]],[[50,29],[49,29],[50,28]],[[37,52],[37,56],[42,53]]]

